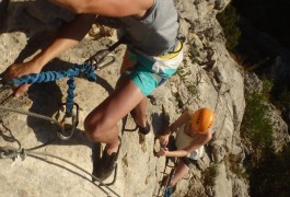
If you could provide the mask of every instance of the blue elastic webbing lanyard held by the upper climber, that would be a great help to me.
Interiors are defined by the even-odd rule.
[[[43,82],[51,82],[56,81],[62,78],[69,78],[67,84],[68,84],[68,96],[67,96],[67,103],[66,103],[66,114],[67,116],[71,115],[73,105],[74,105],[74,78],[80,74],[83,74],[86,77],[89,81],[96,81],[96,74],[94,73],[94,67],[83,63],[83,65],[74,65],[72,68],[68,69],[67,71],[46,71],[40,73],[33,73],[23,76],[21,78],[14,78],[12,79],[9,84],[12,85],[23,85],[23,84],[33,84],[33,83],[43,83]]]

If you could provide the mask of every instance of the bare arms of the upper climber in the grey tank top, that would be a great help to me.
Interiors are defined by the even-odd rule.
[[[78,15],[65,25],[57,38],[40,54],[25,63],[12,65],[5,72],[5,79],[22,77],[30,73],[38,73],[43,67],[60,55],[62,51],[78,44],[91,28],[95,14],[107,16],[139,15],[142,16],[153,0],[49,0],[53,3],[67,8]],[[28,85],[22,85],[15,91],[15,95],[23,95]]]

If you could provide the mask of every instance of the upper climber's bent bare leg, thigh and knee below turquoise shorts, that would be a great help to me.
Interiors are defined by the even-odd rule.
[[[130,80],[125,80],[119,89],[95,107],[84,120],[84,130],[95,142],[106,143],[108,154],[118,150],[117,123],[126,116],[144,95]]]

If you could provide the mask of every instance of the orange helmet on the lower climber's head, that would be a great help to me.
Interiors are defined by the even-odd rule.
[[[193,115],[192,127],[195,131],[204,134],[210,128],[213,118],[214,114],[211,109],[200,108]]]

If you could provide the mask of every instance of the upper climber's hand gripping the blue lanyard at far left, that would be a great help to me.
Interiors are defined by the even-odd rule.
[[[38,73],[40,71],[37,68],[36,63],[33,61],[24,62],[24,63],[14,63],[11,65],[4,72],[4,80],[10,81],[13,78],[20,78],[30,73]],[[16,86],[14,90],[14,95],[16,97],[22,96],[30,88],[31,84],[24,84],[21,86]]]

